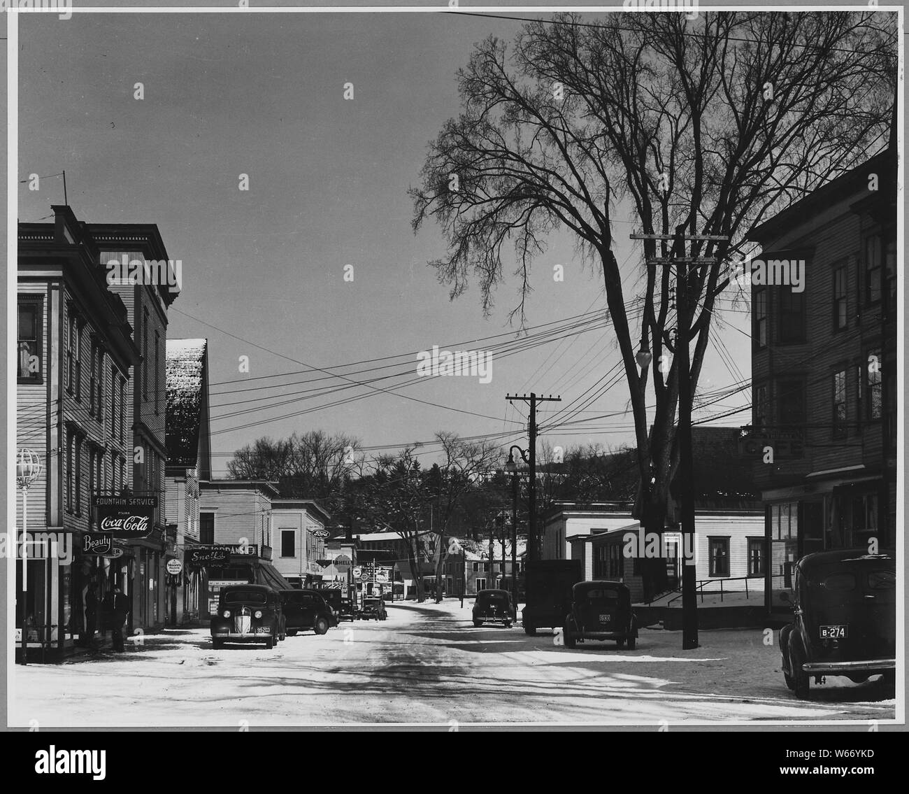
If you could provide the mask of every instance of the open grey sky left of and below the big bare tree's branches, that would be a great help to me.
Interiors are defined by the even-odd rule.
[[[526,407],[508,407],[506,393],[533,388],[568,403],[618,361],[612,335],[598,330],[494,357],[486,384],[437,377],[396,389],[437,406],[364,387],[321,397],[309,392],[303,401],[281,397],[350,385],[313,382],[324,376],[306,374],[307,366],[411,354],[377,362],[396,367],[351,377],[409,369],[413,377],[417,351],[485,349],[508,337],[456,343],[516,330],[508,325],[514,279],[497,292],[492,317],[483,317],[476,288],[449,301],[447,287],[426,265],[445,252],[443,238],[431,224],[413,234],[407,188],[418,182],[427,142],[458,112],[454,73],[474,42],[490,34],[511,40],[520,23],[335,13],[85,14],[67,21],[21,15],[19,25],[19,178],[65,169],[79,219],[155,223],[169,256],[182,260],[184,288],[170,312],[168,337],[209,340],[215,473],[255,437],[294,430],[344,432],[385,451],[431,439],[437,430],[512,431],[504,442],[525,442]],[[142,101],[134,99],[138,82]],[[353,101],[344,99],[348,82]],[[240,174],[249,175],[248,192],[238,189]],[[18,215],[39,220],[62,203],[61,180],[45,179],[38,192],[21,186]],[[628,220],[626,213],[616,217],[614,236],[631,285],[642,266],[627,240]],[[602,276],[582,269],[572,240],[549,242],[534,266],[529,326],[605,306]],[[565,266],[562,283],[553,280],[554,264]],[[354,267],[352,282],[344,280],[345,265]],[[720,337],[741,375],[750,377],[747,315],[724,317],[738,330],[727,328]],[[242,356],[249,357],[248,374],[238,371]],[[375,365],[336,371],[369,366]],[[282,373],[295,375],[254,379]],[[712,347],[701,389],[738,377]],[[395,390],[404,379],[376,386]],[[257,390],[238,391],[252,387]],[[328,405],[360,394],[370,396]],[[252,399],[257,402],[238,403]],[[712,410],[748,399],[745,392]],[[622,411],[626,402],[622,381],[575,418]],[[287,416],[318,406],[326,407]],[[541,411],[542,426],[554,410]],[[744,413],[721,423],[748,421]],[[553,445],[614,447],[633,440],[631,415],[565,433],[544,438]]]

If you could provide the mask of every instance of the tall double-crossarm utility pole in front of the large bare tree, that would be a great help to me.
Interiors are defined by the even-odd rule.
[[[685,256],[685,243],[700,243],[706,240],[727,242],[729,237],[721,235],[632,235],[633,240],[665,240],[673,244],[671,256],[654,257],[648,265],[676,266],[675,316],[678,330],[675,342],[675,356],[679,374],[679,424],[676,440],[679,445],[679,489],[682,491],[682,649],[698,647],[697,637],[697,573],[694,568],[694,460],[691,448],[691,361],[689,344],[691,339],[691,317],[688,300],[688,281],[691,266],[713,265],[717,256]],[[694,247],[694,246],[693,246]]]

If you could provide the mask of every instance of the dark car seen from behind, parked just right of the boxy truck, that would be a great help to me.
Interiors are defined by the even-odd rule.
[[[621,582],[586,581],[572,588],[571,609],[562,628],[566,648],[587,639],[613,639],[619,648],[634,650],[637,618],[631,590]]]

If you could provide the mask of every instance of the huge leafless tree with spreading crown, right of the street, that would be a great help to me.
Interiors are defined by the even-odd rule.
[[[429,146],[412,188],[415,232],[443,229],[447,255],[431,262],[451,295],[480,284],[484,310],[504,280],[514,242],[520,302],[534,256],[555,229],[602,269],[634,417],[641,487],[635,515],[664,528],[678,407],[676,344],[691,345],[697,386],[728,259],[749,231],[886,144],[896,53],[884,13],[564,14],[533,22],[511,53],[490,37],[457,73],[461,113]],[[644,234],[727,236],[692,246],[682,326],[674,340],[670,268],[649,267],[624,294],[613,252],[615,202]],[[688,253],[644,243],[644,256]],[[643,282],[643,284],[641,284]],[[639,369],[635,341],[653,346]],[[673,359],[670,363],[670,357]],[[651,371],[653,373],[651,383]],[[654,393],[648,415],[645,396]],[[659,560],[645,567],[664,585]]]

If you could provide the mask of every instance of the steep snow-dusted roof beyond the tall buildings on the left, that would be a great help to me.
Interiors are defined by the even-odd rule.
[[[167,340],[167,465],[195,467],[208,437],[207,339]]]

